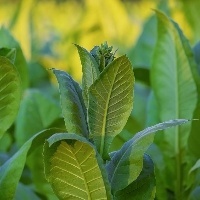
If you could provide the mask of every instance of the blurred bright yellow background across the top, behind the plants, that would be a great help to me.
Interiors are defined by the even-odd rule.
[[[29,60],[58,68],[81,78],[73,43],[92,49],[107,41],[118,54],[134,46],[152,9],[165,3],[170,16],[193,42],[185,18],[184,1],[175,0],[0,0],[0,26],[20,43]],[[187,6],[187,5],[186,5]],[[1,40],[1,38],[0,38]]]

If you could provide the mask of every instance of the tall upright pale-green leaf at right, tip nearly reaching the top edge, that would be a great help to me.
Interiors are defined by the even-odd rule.
[[[191,48],[178,25],[159,11],[151,80],[158,102],[161,121],[176,118],[192,119],[197,103],[197,89],[191,68],[194,58]],[[196,66],[195,66],[196,67]],[[165,135],[171,149],[185,148],[191,124],[170,129]],[[180,136],[181,133],[184,133]]]

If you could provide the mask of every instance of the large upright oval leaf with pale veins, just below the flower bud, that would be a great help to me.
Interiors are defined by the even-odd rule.
[[[134,75],[121,56],[108,65],[89,89],[88,123],[97,150],[107,158],[113,138],[120,133],[133,105]]]

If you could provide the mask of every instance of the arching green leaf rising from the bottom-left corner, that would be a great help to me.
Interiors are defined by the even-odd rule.
[[[0,167],[0,197],[13,199],[27,156],[42,145],[46,138],[58,131],[60,130],[48,129],[34,135]]]

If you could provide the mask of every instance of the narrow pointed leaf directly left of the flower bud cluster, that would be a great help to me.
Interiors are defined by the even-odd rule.
[[[83,47],[79,45],[75,46],[78,49],[78,53],[81,59],[82,72],[83,72],[83,78],[82,78],[83,98],[85,101],[85,105],[88,108],[88,89],[98,78],[100,72],[98,64],[93,58],[93,56]]]

